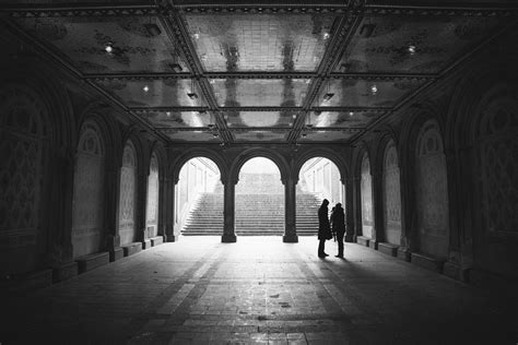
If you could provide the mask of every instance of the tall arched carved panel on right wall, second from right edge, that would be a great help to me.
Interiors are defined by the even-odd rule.
[[[447,258],[449,214],[446,156],[443,136],[435,121],[427,121],[421,128],[415,154],[419,249],[426,254]]]

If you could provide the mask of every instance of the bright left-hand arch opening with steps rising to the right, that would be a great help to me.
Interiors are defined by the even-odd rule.
[[[223,185],[212,159],[195,157],[181,166],[174,204],[175,229],[181,235],[223,234]]]

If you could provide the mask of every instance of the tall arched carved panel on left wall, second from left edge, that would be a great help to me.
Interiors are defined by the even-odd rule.
[[[85,123],[81,132],[72,205],[74,258],[101,251],[104,240],[104,145],[95,124]]]

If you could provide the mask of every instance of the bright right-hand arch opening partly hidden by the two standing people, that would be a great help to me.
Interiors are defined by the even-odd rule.
[[[313,236],[318,233],[318,207],[323,199],[329,200],[330,212],[337,203],[345,209],[340,170],[325,157],[314,157],[304,163],[295,192],[297,235]]]

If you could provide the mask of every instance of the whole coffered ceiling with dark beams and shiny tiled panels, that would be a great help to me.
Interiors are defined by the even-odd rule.
[[[516,22],[466,1],[34,2],[2,10],[128,116],[222,145],[350,142]]]

